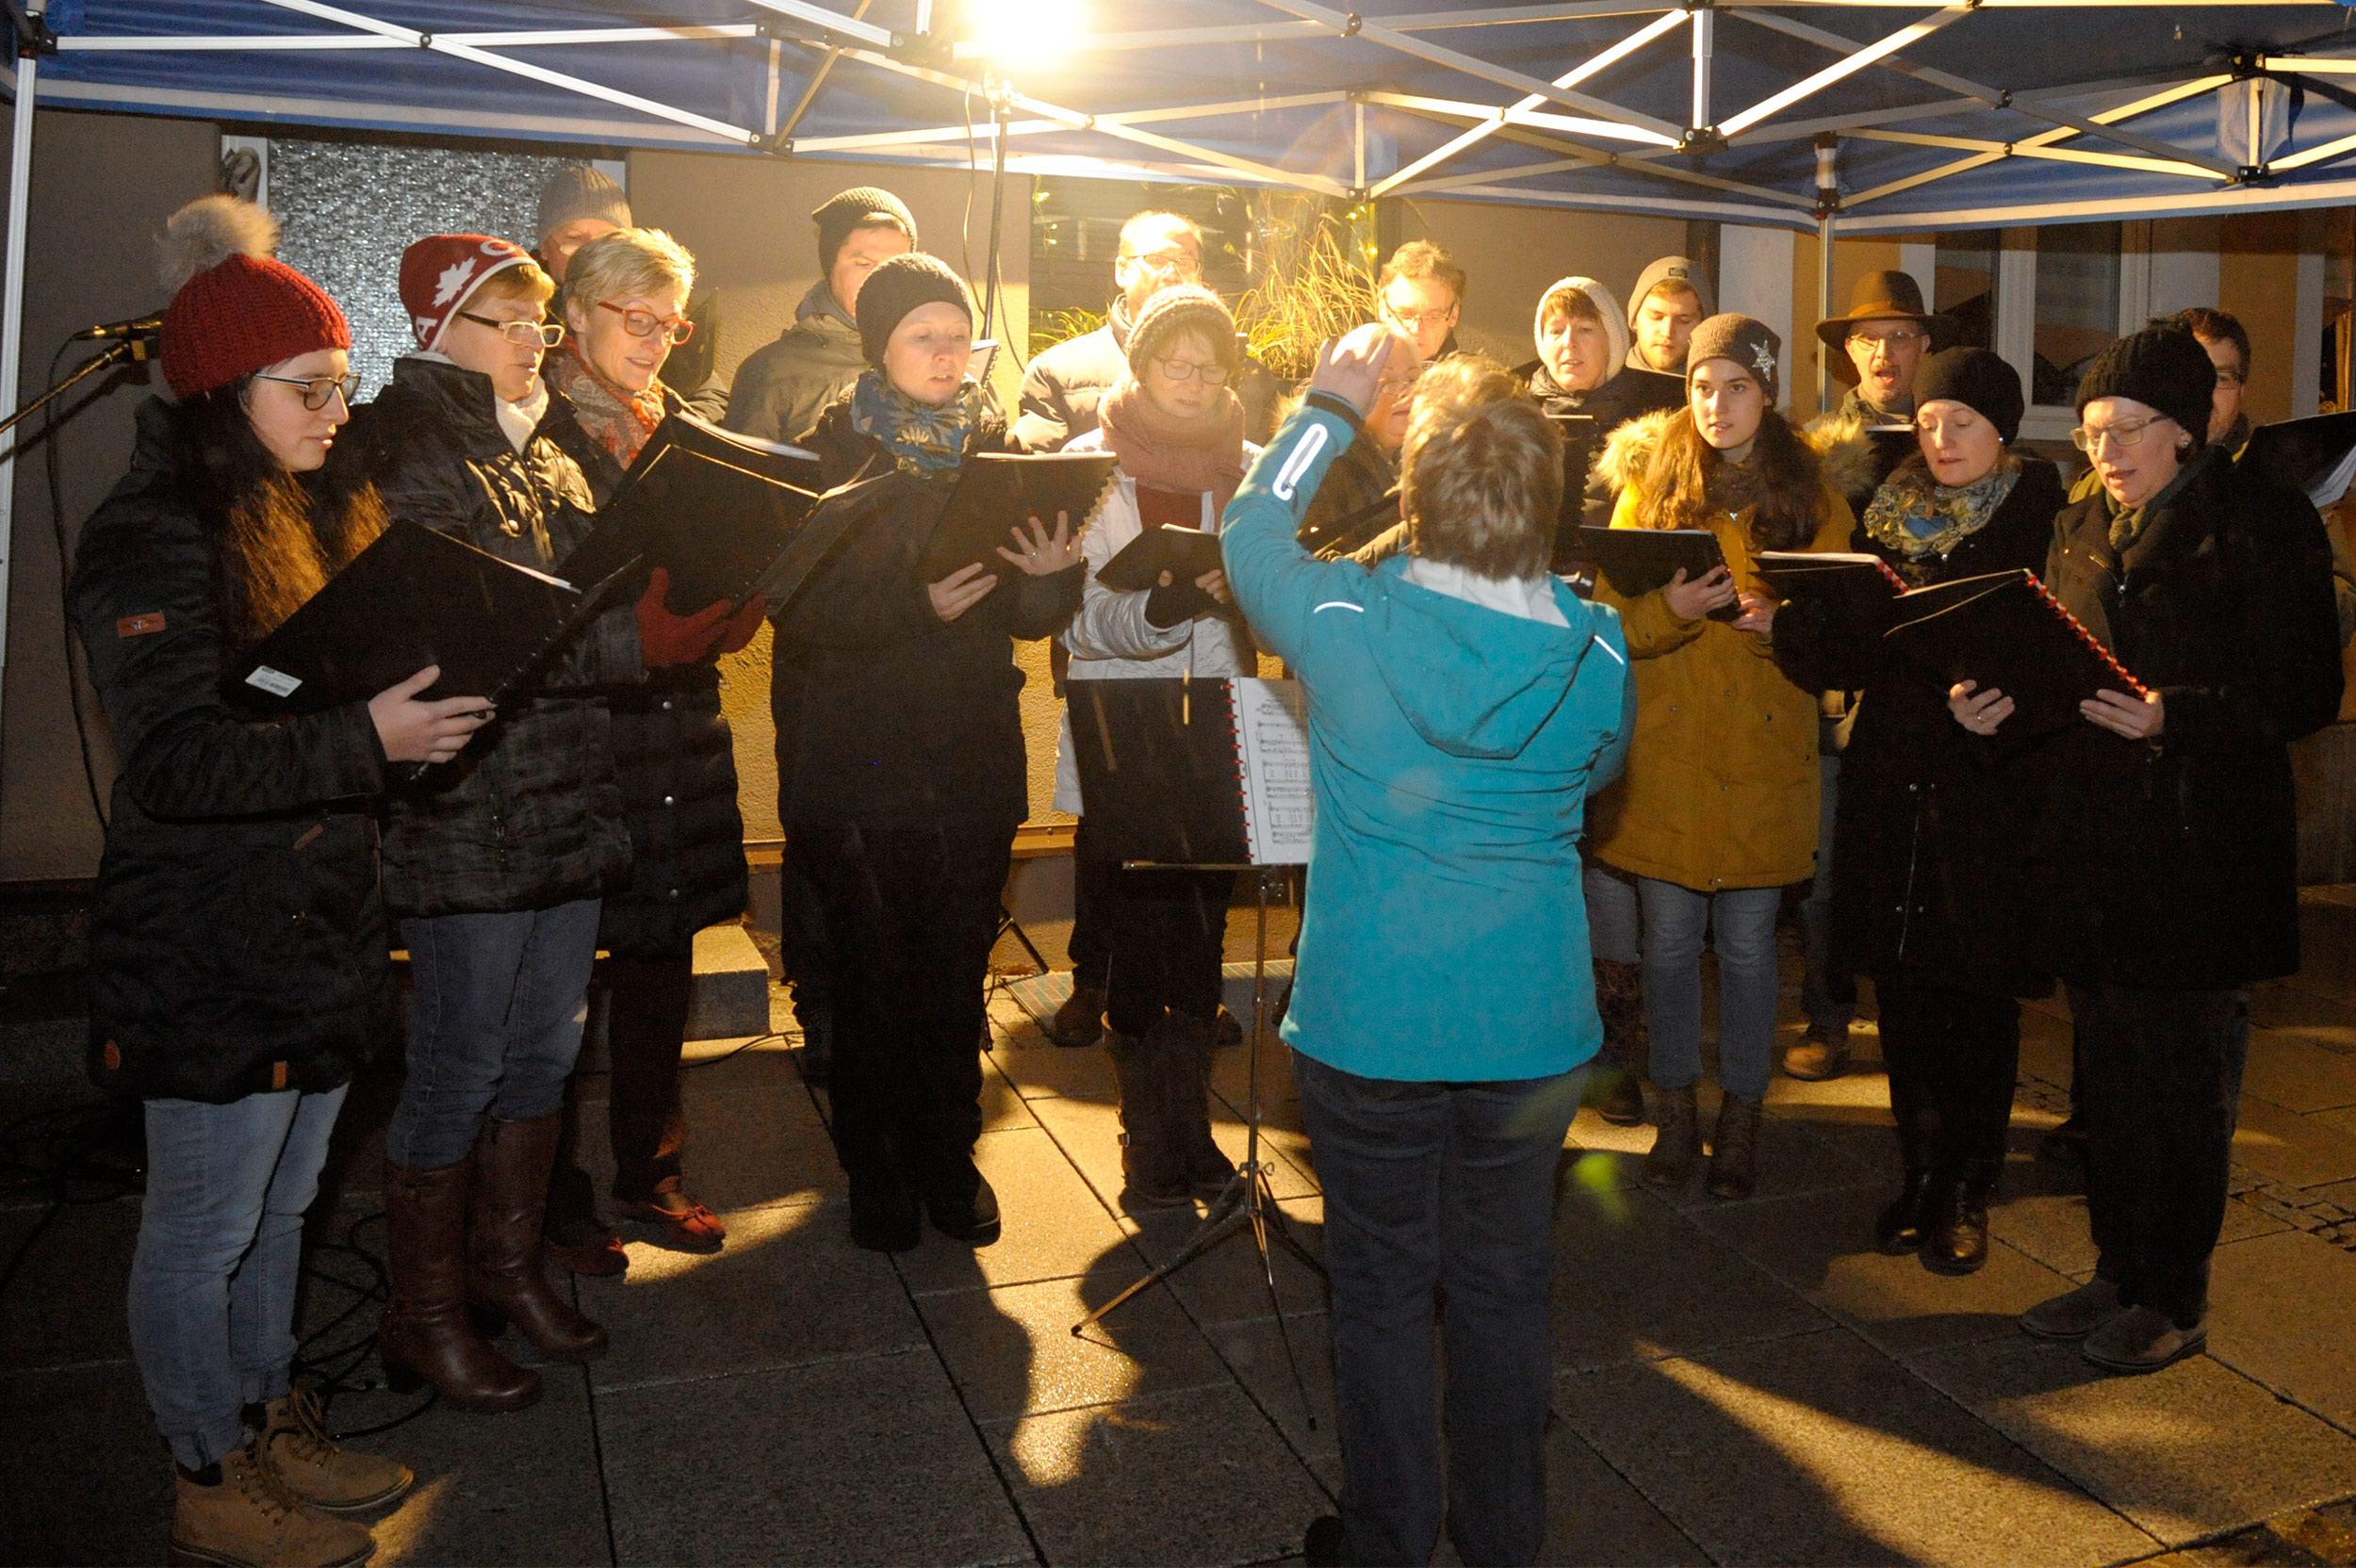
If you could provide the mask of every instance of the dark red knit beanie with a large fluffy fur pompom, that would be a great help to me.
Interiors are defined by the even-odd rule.
[[[193,200],[165,224],[163,379],[177,398],[229,386],[318,348],[351,348],[325,290],[273,261],[278,224],[233,195]]]

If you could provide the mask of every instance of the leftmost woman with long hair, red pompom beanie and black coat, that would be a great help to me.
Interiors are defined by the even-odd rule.
[[[344,1453],[292,1382],[304,1210],[353,1067],[393,1034],[372,796],[448,763],[478,697],[429,666],[290,720],[221,706],[229,664],[384,527],[306,478],[349,419],[351,330],[226,195],[165,233],[163,372],[130,473],[82,525],[73,622],[123,770],[92,906],[92,1076],[139,1095],[146,1196],[130,1333],[177,1469],[172,1552],[358,1563],[342,1514],[410,1471]]]

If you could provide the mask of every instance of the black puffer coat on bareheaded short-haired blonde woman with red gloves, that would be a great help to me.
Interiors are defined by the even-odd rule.
[[[681,407],[662,388],[664,412]],[[622,483],[622,461],[582,428],[556,393],[540,433],[580,464],[598,506]],[[744,913],[744,819],[737,815],[735,742],[721,716],[712,659],[646,673],[605,695],[613,765],[629,822],[629,883],[605,892],[598,946],[622,958],[688,958],[695,932]]]

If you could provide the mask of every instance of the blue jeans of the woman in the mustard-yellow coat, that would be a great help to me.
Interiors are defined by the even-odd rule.
[[[1644,906],[1644,1024],[1652,1081],[1677,1090],[1701,1078],[1701,932],[1718,949],[1718,1083],[1743,1099],[1767,1097],[1774,1055],[1774,913],[1781,888],[1694,892],[1637,881]]]

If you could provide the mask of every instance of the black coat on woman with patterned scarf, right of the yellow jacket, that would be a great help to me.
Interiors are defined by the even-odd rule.
[[[1953,553],[1911,563],[1864,525],[1849,549],[1880,556],[1918,589],[2043,572],[2062,506],[2062,476],[2031,457],[2012,494]],[[1819,605],[1776,612],[1774,657],[1807,690],[1861,692],[1833,826],[1833,968],[1984,996],[2050,989],[2019,939],[2019,843],[2031,824],[2019,758],[1977,746],[1948,713],[1939,678],[1890,657],[1878,638],[1842,633]]]

